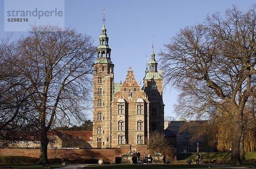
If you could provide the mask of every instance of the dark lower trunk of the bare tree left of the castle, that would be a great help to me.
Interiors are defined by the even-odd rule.
[[[39,161],[37,162],[37,164],[42,163],[42,161],[46,161],[46,163],[49,163],[48,155],[47,155],[48,143],[49,143],[49,139],[47,137],[47,132],[41,132],[41,148],[40,148]]]

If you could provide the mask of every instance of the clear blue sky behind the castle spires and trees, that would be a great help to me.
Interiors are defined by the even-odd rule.
[[[22,1],[22,0],[17,0]],[[38,1],[38,6],[43,0]],[[54,0],[52,0],[54,1]],[[207,14],[225,13],[236,5],[247,11],[255,0],[64,0],[64,25],[95,39],[102,28],[102,14],[105,8],[105,25],[109,37],[111,60],[115,64],[115,82],[125,79],[129,66],[134,70],[137,82],[145,75],[146,56],[150,58],[151,38],[154,36],[156,59],[163,44],[170,41],[180,28],[203,22]],[[14,4],[15,6],[15,4]],[[4,0],[0,0],[0,36],[4,32]],[[17,39],[26,32],[14,32]],[[159,62],[160,65],[160,62]],[[178,91],[170,86],[164,88],[165,116],[177,115],[173,104]],[[91,115],[90,115],[91,117]]]

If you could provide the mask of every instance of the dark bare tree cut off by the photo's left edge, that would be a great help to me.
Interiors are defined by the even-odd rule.
[[[32,124],[33,118],[28,115],[29,93],[26,81],[20,76],[13,62],[13,45],[9,44],[12,34],[0,38],[0,146],[5,146],[12,140],[25,137],[25,132]],[[31,127],[31,126],[30,126]]]

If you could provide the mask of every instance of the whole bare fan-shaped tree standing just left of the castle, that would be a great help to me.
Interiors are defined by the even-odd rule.
[[[15,44],[18,69],[29,87],[41,137],[38,163],[47,161],[47,132],[55,123],[82,120],[90,99],[96,48],[70,28],[33,26]]]

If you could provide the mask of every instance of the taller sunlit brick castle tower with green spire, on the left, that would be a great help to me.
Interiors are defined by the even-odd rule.
[[[103,27],[99,36],[97,59],[93,74],[93,147],[105,148],[111,145],[111,101],[113,95],[113,68],[111,48],[108,46],[105,28],[105,11]]]

